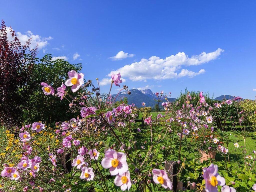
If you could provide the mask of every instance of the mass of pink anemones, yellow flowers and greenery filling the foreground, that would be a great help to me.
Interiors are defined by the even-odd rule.
[[[54,131],[42,122],[31,122],[13,133],[6,131],[3,140],[8,146],[1,153],[2,191],[166,191],[176,190],[173,176],[187,183],[184,190],[254,190],[254,165],[249,164],[255,155],[247,158],[249,154],[241,151],[244,167],[236,171],[238,175],[231,171],[225,146],[230,140],[222,138],[226,132],[217,130],[212,114],[220,105],[210,106],[202,92],[196,104],[191,104],[195,98],[189,94],[184,103],[166,99],[162,102],[165,113],[156,118],[146,116],[146,126],[140,130],[134,123],[136,106],[116,106],[116,97],[110,95],[112,87],[122,83],[120,73],[112,75],[107,95],[91,80],[85,81],[83,73],[71,70],[68,77],[58,88],[42,82],[42,92],[69,101],[69,110],[80,115],[57,122]],[[120,92],[127,89],[123,86]],[[157,102],[165,98],[163,92],[157,96]],[[201,150],[216,150],[225,157],[224,163],[199,163]],[[170,160],[177,165],[177,173],[166,168]]]

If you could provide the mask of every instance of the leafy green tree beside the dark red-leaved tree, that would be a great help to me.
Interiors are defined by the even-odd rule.
[[[54,88],[60,87],[68,78],[68,71],[72,69],[80,71],[82,69],[81,63],[73,65],[62,59],[53,61],[50,54],[46,54],[34,65],[31,74],[28,74],[27,85],[19,90],[21,95],[25,95],[26,98],[26,103],[21,106],[23,123],[34,121],[54,123],[79,115],[67,113],[69,102],[65,99],[65,101],[61,101],[59,97],[44,95],[40,85],[41,82],[47,82]]]

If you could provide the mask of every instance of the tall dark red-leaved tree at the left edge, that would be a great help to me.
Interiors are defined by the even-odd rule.
[[[11,39],[8,39],[10,33]],[[30,40],[21,45],[15,31],[7,31],[4,21],[0,26],[0,121],[8,127],[20,121],[20,105],[24,98],[19,94],[29,80],[37,49],[30,50]]]

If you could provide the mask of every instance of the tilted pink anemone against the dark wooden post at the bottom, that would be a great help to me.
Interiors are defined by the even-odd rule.
[[[173,189],[173,184],[168,178],[167,173],[165,170],[160,170],[160,169],[153,169],[153,180],[156,184],[161,184],[162,187],[165,189],[169,188],[170,190]]]

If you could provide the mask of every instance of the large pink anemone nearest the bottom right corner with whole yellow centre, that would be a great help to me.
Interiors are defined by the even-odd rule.
[[[225,178],[218,174],[217,165],[211,164],[203,173],[206,192],[218,192],[218,185],[223,186],[226,183]]]

